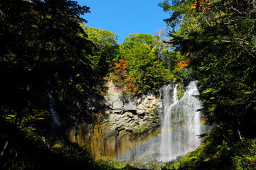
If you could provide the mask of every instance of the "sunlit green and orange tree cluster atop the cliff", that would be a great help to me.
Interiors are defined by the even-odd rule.
[[[165,28],[154,36],[139,33],[124,40],[119,49],[121,59],[117,62],[117,55],[109,74],[117,89],[134,96],[158,89],[166,81],[188,81],[188,57],[181,52],[169,52],[171,45],[166,32]]]

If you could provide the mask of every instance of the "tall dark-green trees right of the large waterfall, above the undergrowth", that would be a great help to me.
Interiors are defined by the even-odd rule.
[[[255,3],[253,1],[169,1],[170,34],[176,50],[189,55],[200,79],[207,122],[223,126],[233,139],[252,137],[255,128]],[[255,136],[254,136],[255,137]]]

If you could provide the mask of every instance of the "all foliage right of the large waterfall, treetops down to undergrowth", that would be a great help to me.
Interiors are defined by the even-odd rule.
[[[255,169],[255,2],[164,1],[176,52],[190,60],[203,111],[215,128],[205,144],[166,169]],[[174,52],[175,53],[175,52]],[[186,74],[185,74],[186,76]]]

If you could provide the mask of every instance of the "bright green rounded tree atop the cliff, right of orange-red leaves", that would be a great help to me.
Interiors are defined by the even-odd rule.
[[[157,36],[139,33],[129,35],[120,46],[135,94],[156,88],[169,79],[169,69],[164,68],[161,56],[164,43],[159,42]]]

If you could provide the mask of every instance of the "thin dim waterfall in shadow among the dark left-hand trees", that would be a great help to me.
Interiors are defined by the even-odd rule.
[[[49,98],[49,110],[50,110],[50,123],[53,131],[60,128],[60,117],[58,113],[55,111],[54,108],[54,99],[53,96],[50,95],[50,93],[47,93],[47,96]]]

